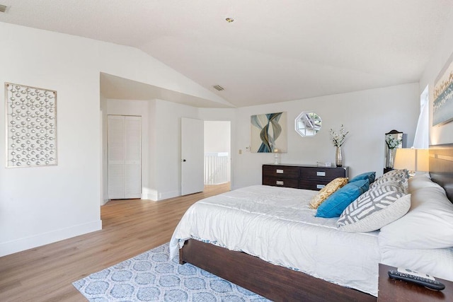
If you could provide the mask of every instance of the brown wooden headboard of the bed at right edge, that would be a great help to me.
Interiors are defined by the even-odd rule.
[[[453,202],[453,144],[430,146],[430,175]]]

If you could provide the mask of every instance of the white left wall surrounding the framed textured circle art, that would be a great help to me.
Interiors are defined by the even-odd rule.
[[[0,33],[0,83],[57,91],[58,157],[54,167],[0,168],[1,256],[101,228],[101,144],[93,45],[6,23]],[[0,106],[0,158],[4,118]]]

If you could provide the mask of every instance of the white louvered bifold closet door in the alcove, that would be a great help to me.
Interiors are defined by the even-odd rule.
[[[140,198],[141,117],[108,116],[108,198]]]

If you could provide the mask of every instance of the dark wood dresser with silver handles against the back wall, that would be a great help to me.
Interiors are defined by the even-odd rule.
[[[263,185],[321,190],[335,178],[347,178],[348,167],[316,165],[263,165]]]

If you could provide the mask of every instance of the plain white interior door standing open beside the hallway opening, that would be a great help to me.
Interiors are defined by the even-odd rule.
[[[181,117],[181,194],[204,188],[204,122]]]

